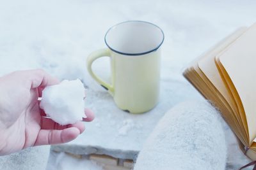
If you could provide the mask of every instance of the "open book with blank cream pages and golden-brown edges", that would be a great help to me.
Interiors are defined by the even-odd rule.
[[[241,149],[256,160],[256,24],[223,39],[184,76],[221,111]]]

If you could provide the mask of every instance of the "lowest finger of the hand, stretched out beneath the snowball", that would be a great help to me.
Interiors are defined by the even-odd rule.
[[[41,129],[38,132],[34,146],[67,143],[76,139],[79,134],[80,131],[76,127],[69,127],[63,130]]]

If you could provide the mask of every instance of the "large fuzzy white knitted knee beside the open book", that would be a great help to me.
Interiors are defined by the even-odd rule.
[[[222,170],[227,148],[211,104],[180,103],[164,115],[143,146],[134,170]]]

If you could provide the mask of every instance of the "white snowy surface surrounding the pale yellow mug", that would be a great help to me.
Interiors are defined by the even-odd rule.
[[[43,68],[60,80],[81,79],[88,89],[86,107],[92,108],[98,122],[86,124],[86,131],[73,145],[95,144],[137,152],[167,110],[180,101],[202,99],[184,80],[182,69],[237,27],[253,24],[255,8],[256,2],[250,0],[0,1],[0,76],[19,69]],[[89,53],[106,47],[104,34],[108,28],[125,20],[152,22],[165,35],[161,99],[154,110],[143,115],[119,111],[85,67]],[[109,65],[105,57],[95,61],[93,70],[109,81]],[[106,118],[108,114],[111,117]],[[131,126],[125,135],[119,135],[119,128],[127,126],[126,119],[142,127]],[[249,160],[239,150],[232,131],[223,125],[227,169],[238,169]]]

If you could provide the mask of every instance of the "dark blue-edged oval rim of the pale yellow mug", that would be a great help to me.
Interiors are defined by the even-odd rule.
[[[162,32],[162,34],[163,34],[163,39],[162,39],[161,43],[159,43],[159,45],[157,45],[154,49],[148,50],[147,52],[141,52],[141,53],[125,53],[125,52],[120,52],[120,51],[118,51],[118,50],[115,50],[115,49],[111,48],[111,46],[108,45],[107,40],[106,40],[106,36],[108,35],[108,32],[111,31],[112,29],[114,29],[116,26],[118,26],[118,25],[120,25],[120,24],[127,23],[127,22],[143,22],[143,23],[145,23],[145,24],[154,25],[154,26],[157,27],[157,28]],[[157,26],[156,24],[152,24],[151,22],[147,22],[147,21],[143,21],[143,20],[127,20],[127,21],[120,22],[120,23],[118,23],[118,24],[113,25],[112,27],[110,27],[110,28],[108,29],[108,31],[106,32],[106,34],[105,34],[104,41],[105,41],[106,45],[108,46],[108,48],[109,48],[110,50],[112,50],[113,52],[120,53],[120,54],[122,54],[122,55],[144,55],[144,54],[147,54],[147,53],[156,51],[156,50],[163,44],[163,42],[164,42],[164,32],[163,32],[163,30],[162,30],[159,26]]]

